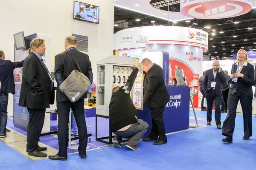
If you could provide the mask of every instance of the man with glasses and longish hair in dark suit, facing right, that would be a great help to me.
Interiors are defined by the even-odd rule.
[[[51,74],[42,56],[45,54],[45,41],[35,38],[30,42],[32,53],[24,60],[19,105],[28,108],[26,151],[31,156],[46,157],[38,142],[44,125],[45,110],[54,103],[54,85]]]

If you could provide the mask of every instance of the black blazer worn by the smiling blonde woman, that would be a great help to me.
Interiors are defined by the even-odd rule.
[[[237,63],[237,62],[236,62]],[[237,65],[234,63],[232,65],[231,74],[237,72]],[[236,96],[253,96],[252,86],[254,85],[254,68],[253,65],[247,62],[247,65],[244,65],[240,71],[241,74],[244,74],[244,77],[239,77],[237,82],[233,82],[230,79],[230,90],[229,94],[234,95],[236,92]]]

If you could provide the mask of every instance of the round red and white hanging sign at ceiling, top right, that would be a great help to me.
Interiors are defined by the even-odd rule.
[[[246,14],[252,9],[252,4],[247,0],[204,0],[193,4],[180,3],[180,7],[180,13],[186,17],[219,19]]]

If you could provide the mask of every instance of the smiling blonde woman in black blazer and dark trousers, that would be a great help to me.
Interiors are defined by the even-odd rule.
[[[230,90],[227,98],[228,113],[223,123],[222,135],[227,136],[222,142],[233,142],[235,128],[236,108],[240,100],[244,118],[244,140],[252,136],[252,112],[253,112],[253,90],[254,68],[248,61],[245,50],[239,50],[236,60],[232,65],[230,75]]]

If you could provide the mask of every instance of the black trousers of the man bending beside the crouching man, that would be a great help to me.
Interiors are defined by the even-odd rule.
[[[148,137],[153,140],[158,139],[158,141],[167,142],[164,121],[163,121],[164,109],[165,109],[165,105],[150,109],[151,116],[152,116],[152,129],[151,129],[151,133]]]

